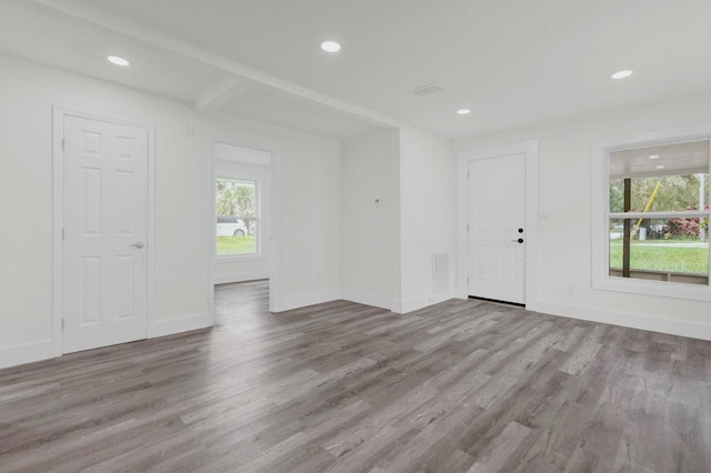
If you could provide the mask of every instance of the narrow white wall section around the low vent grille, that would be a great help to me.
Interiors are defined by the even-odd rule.
[[[400,129],[400,292],[395,310],[409,312],[454,294],[457,160],[451,141]],[[432,291],[432,253],[449,253],[449,290]]]

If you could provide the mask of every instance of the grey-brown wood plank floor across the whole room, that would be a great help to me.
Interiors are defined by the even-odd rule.
[[[213,330],[0,371],[0,471],[711,471],[711,342],[473,300],[216,300]]]

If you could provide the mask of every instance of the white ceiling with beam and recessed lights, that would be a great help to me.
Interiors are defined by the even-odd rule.
[[[463,137],[711,89],[709,0],[0,0],[0,50],[297,130]],[[341,42],[339,54],[319,49]],[[132,67],[104,63],[107,53]],[[632,69],[613,81],[610,73]],[[435,82],[441,92],[408,93]],[[469,108],[472,113],[454,112]]]

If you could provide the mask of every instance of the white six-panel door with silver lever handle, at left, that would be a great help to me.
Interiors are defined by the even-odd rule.
[[[64,117],[63,352],[148,336],[148,131]]]

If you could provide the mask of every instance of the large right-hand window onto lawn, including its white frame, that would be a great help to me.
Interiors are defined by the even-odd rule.
[[[709,140],[670,141],[601,150],[593,288],[711,299]]]

